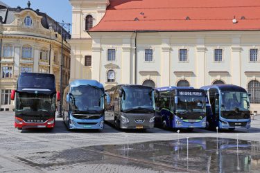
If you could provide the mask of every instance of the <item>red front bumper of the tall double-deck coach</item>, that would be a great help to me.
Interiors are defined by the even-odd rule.
[[[50,118],[45,122],[25,122],[21,118],[15,117],[15,128],[18,129],[53,128],[54,126],[55,118]]]

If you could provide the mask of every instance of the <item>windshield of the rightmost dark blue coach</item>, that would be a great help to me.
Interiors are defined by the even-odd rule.
[[[248,93],[236,91],[224,91],[221,93],[222,111],[249,111]]]

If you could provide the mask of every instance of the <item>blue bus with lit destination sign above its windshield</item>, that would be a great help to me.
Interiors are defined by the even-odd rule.
[[[157,88],[155,126],[163,128],[193,128],[206,126],[206,94],[193,87],[166,86]]]

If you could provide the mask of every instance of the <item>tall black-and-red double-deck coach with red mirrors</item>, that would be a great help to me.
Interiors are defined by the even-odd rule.
[[[21,73],[17,89],[12,90],[15,100],[15,127],[19,130],[55,127],[56,92],[55,76],[44,73]]]

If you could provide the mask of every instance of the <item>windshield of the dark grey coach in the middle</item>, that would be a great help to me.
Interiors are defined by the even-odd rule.
[[[122,97],[122,109],[128,111],[132,109],[154,110],[153,89],[141,87],[124,87]]]

